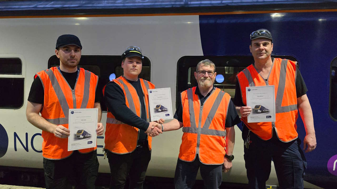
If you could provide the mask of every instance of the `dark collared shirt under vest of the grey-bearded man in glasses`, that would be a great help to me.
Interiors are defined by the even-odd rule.
[[[212,88],[212,90],[207,93],[207,95],[204,97],[200,91],[199,88],[196,87],[195,94],[199,96],[200,104],[201,106],[204,105],[206,99],[211,95],[212,91],[215,89],[215,87]],[[180,122],[183,122],[183,108],[182,104],[180,103],[180,106],[178,106],[178,109],[176,110],[176,113],[174,114],[174,118],[177,119]],[[235,106],[232,102],[232,100],[229,102],[228,105],[228,111],[226,115],[226,121],[225,121],[225,127],[233,127],[234,125],[240,123],[241,120],[239,118],[238,113],[235,110]]]

